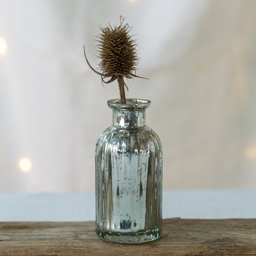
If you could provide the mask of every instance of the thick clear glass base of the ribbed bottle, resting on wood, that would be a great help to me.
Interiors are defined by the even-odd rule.
[[[113,232],[96,230],[100,238],[117,244],[143,244],[158,239],[162,233],[160,228],[140,232]]]

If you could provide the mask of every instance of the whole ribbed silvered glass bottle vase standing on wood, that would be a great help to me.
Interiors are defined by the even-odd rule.
[[[138,244],[162,232],[162,146],[146,126],[149,100],[109,100],[112,126],[96,145],[96,232],[114,243]]]

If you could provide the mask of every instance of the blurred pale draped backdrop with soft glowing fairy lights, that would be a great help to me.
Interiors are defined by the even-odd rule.
[[[94,191],[111,125],[98,25],[134,28],[163,188],[256,188],[255,0],[0,0],[0,192]]]

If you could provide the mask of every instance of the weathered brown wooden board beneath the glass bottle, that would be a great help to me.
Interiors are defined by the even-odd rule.
[[[164,219],[148,244],[111,244],[95,222],[0,222],[0,256],[256,256],[256,219]]]

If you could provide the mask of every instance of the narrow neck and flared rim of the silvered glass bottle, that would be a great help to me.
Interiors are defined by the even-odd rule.
[[[113,110],[112,125],[123,128],[138,128],[146,126],[146,108],[150,101],[143,99],[126,99],[126,104],[120,104],[120,100],[108,101]]]

